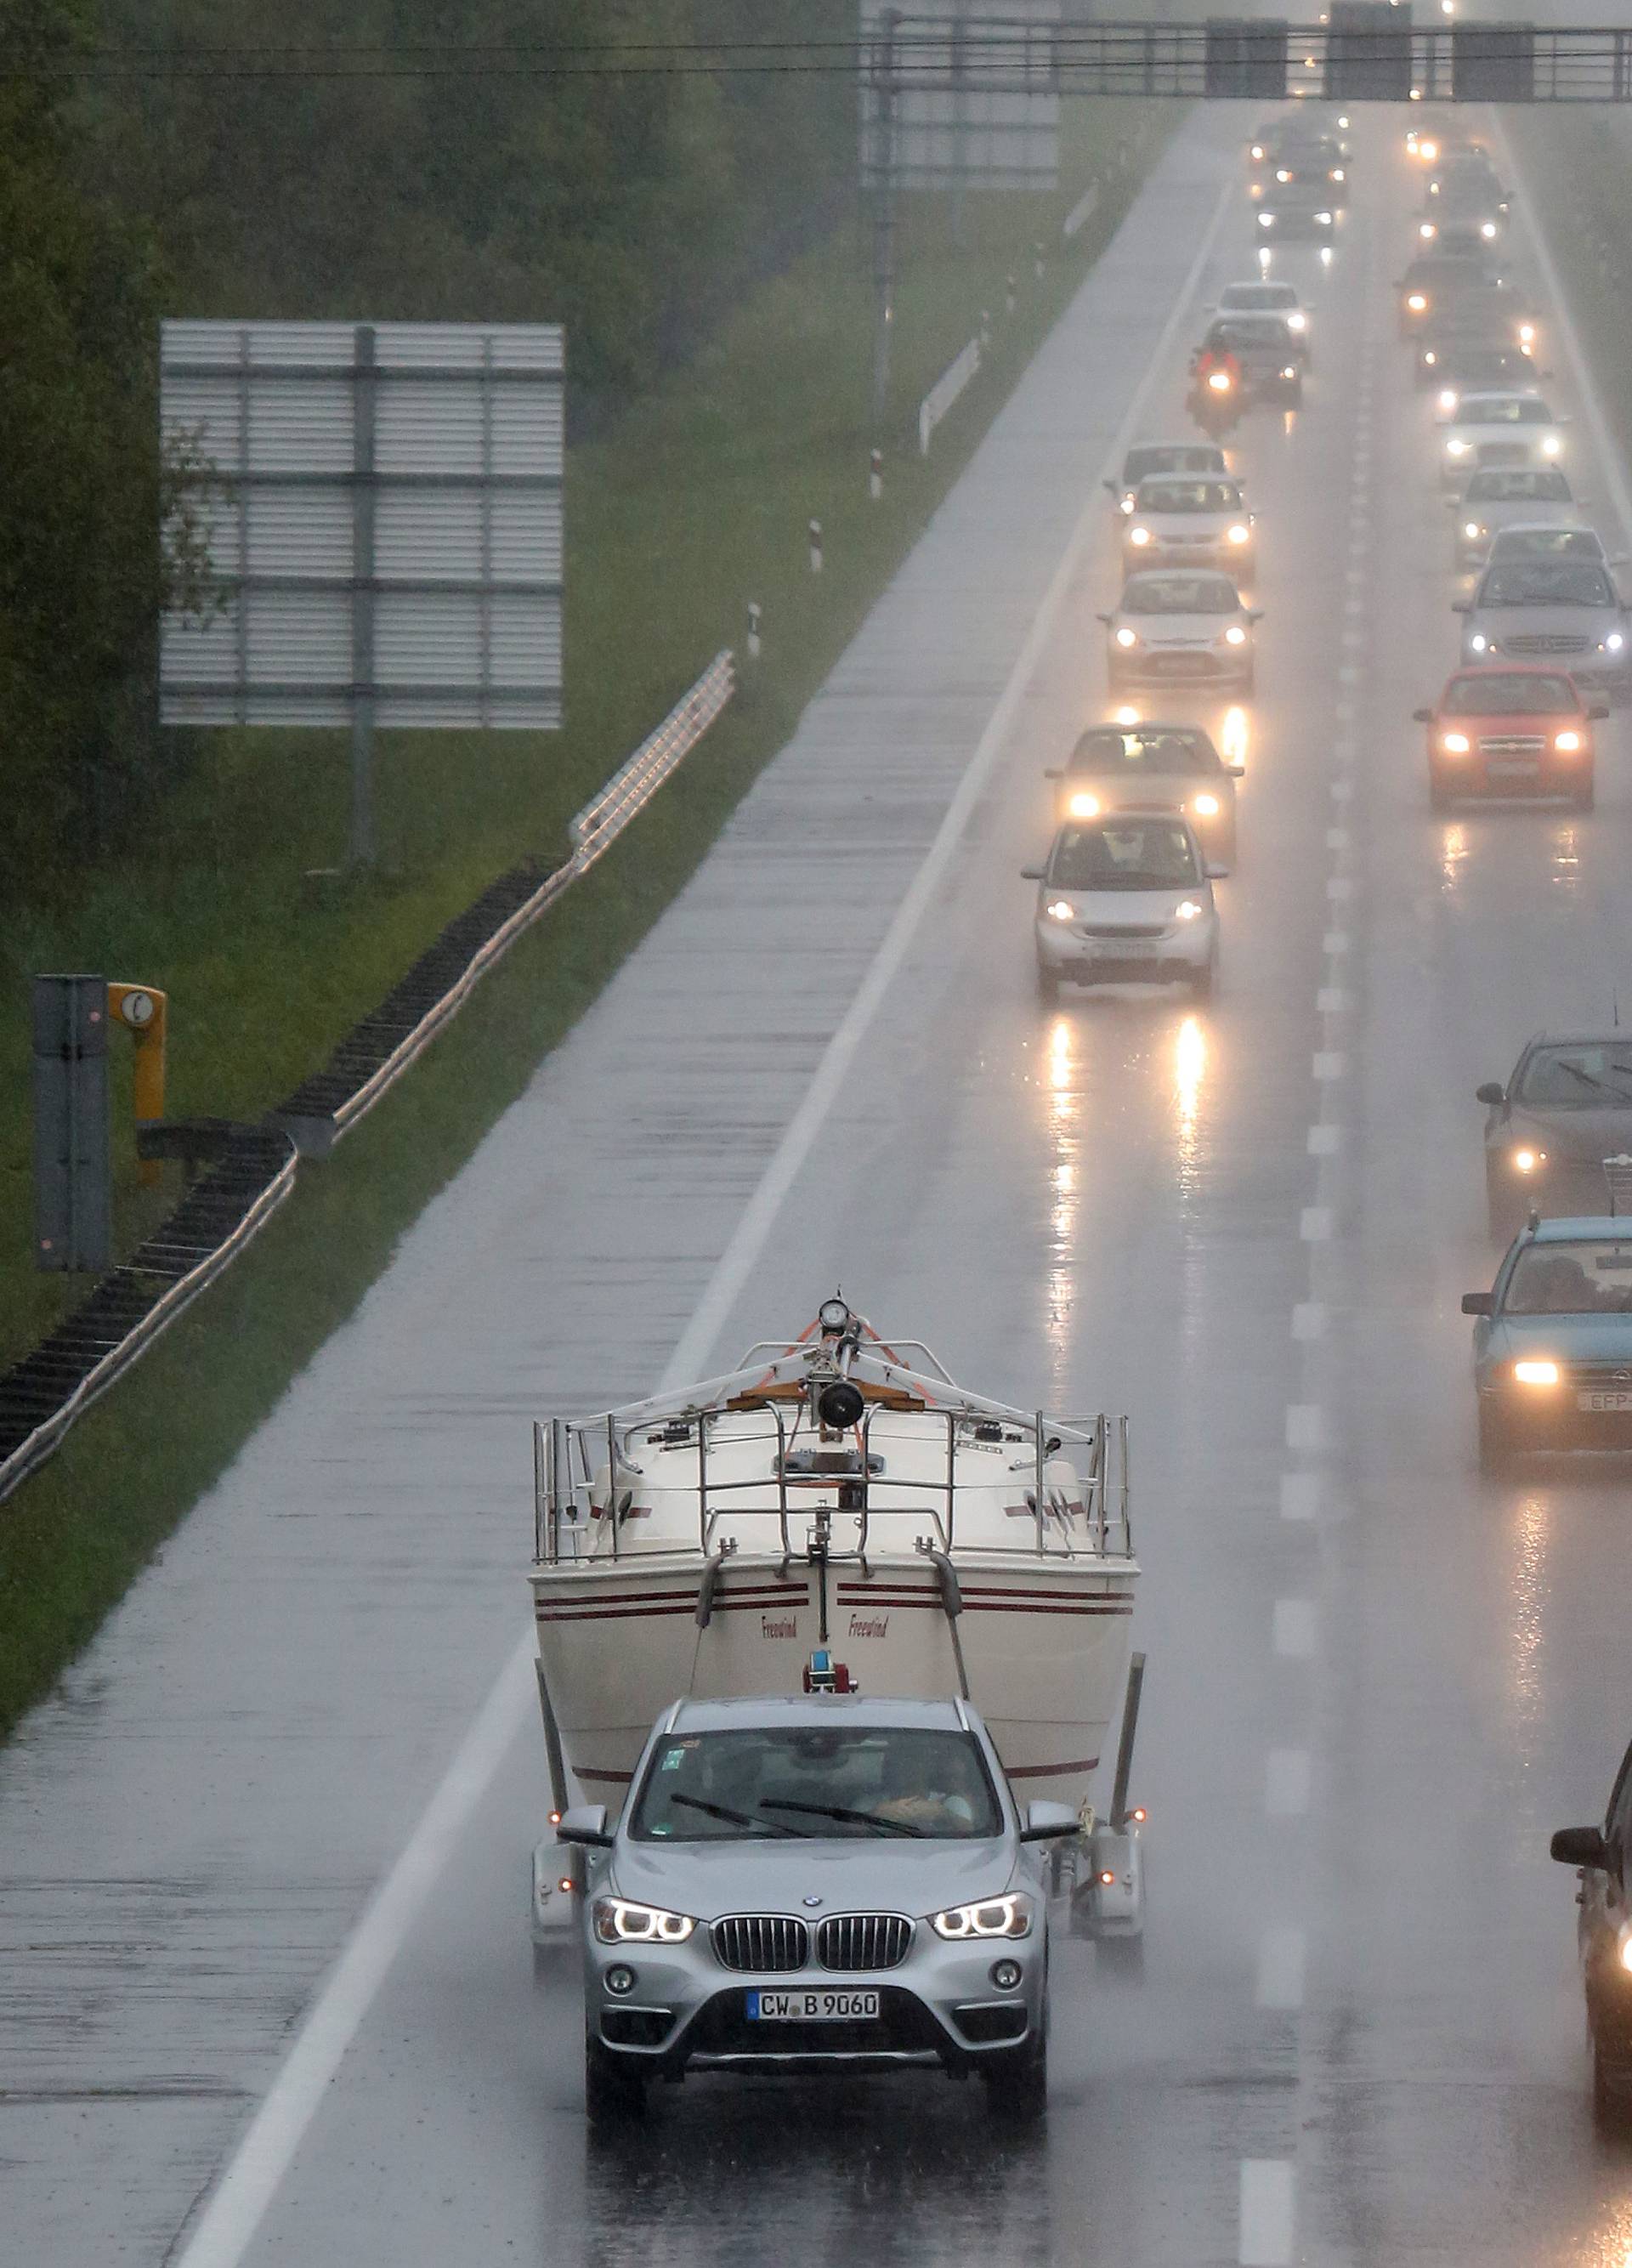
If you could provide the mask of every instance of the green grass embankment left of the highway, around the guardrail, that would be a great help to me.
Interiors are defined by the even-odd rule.
[[[383,871],[308,903],[301,873],[345,841],[347,751],[329,735],[220,735],[159,828],[86,878],[73,912],[0,916],[0,1359],[73,1297],[29,1270],[27,987],[97,968],[165,987],[170,1114],[254,1118],[317,1066],[435,930],[567,816],[723,644],[750,599],[764,658],[703,748],[628,837],[476,993],[394,1095],[304,1168],[249,1256],[0,1506],[0,1730],[86,1642],[131,1574],[388,1263],[707,853],[850,640],[1120,218],[1165,134],[1081,107],[1065,188],[907,200],[884,501],[866,485],[868,245],[845,234],[759,293],[682,374],[569,460],[567,714],[551,737],[385,737]],[[1061,218],[1117,136],[1129,163],[1070,245]],[[1031,243],[1045,247],[1045,272]],[[1004,279],[1018,306],[1004,313]],[[986,370],[927,460],[911,424],[932,379],[993,311]],[[807,522],[825,574],[807,565]],[[116,1041],[118,1046],[118,1041]],[[125,1066],[116,1093],[127,1109]],[[177,1198],[120,1157],[120,1245]]]

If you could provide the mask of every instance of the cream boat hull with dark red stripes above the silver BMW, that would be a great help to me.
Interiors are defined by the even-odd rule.
[[[696,1554],[630,1554],[535,1567],[533,1599],[567,1762],[610,1805],[669,1701],[802,1692],[818,1647],[861,1692],[968,1690],[1015,1794],[1079,1805],[1122,1701],[1136,1579],[1133,1560],[959,1554],[952,1619],[920,1554],[741,1554],[707,1597]]]

